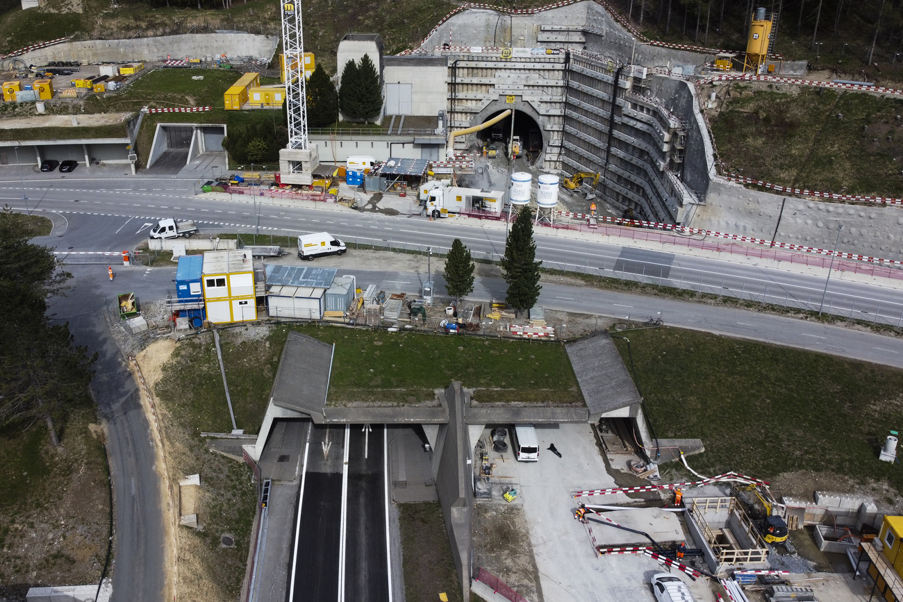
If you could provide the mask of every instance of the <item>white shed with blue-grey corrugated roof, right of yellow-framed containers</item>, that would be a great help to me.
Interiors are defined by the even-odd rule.
[[[335,268],[266,265],[266,302],[273,318],[321,320]]]

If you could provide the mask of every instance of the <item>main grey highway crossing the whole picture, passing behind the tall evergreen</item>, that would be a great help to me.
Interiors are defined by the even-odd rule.
[[[168,182],[168,181],[167,181]],[[321,229],[346,239],[349,245],[391,245],[401,249],[423,250],[427,245],[441,251],[461,237],[474,256],[498,259],[504,253],[504,225],[476,220],[429,221],[419,216],[391,217],[377,214],[295,207],[278,199],[235,197],[216,199],[209,195],[195,196],[191,191],[163,190],[148,185],[133,189],[106,190],[97,181],[86,181],[81,190],[60,186],[49,190],[29,190],[42,193],[42,199],[31,208],[60,211],[75,218],[122,218],[115,228],[86,239],[90,250],[119,250],[124,242],[143,238],[149,224],[157,218],[175,216],[199,222],[203,234],[219,231],[256,229],[261,234],[296,235]],[[104,182],[99,182],[104,183]],[[119,185],[118,182],[111,186]],[[18,187],[0,183],[0,196],[10,195]],[[142,189],[145,190],[142,190]],[[6,199],[17,200],[12,196]],[[78,204],[76,204],[76,200]],[[86,200],[87,199],[87,200]],[[14,202],[19,207],[20,203]],[[120,229],[121,228],[121,229]],[[113,236],[116,234],[116,236]],[[122,236],[127,235],[127,236]],[[796,308],[817,310],[821,305],[827,270],[814,273],[794,273],[780,269],[724,260],[718,255],[698,257],[660,251],[637,249],[617,243],[620,239],[600,236],[591,240],[570,231],[537,227],[535,240],[537,258],[548,267],[611,277],[666,284],[713,294],[727,294],[752,301],[767,301]],[[122,241],[122,242],[120,242]],[[104,247],[104,248],[98,248]],[[88,250],[88,247],[79,247]],[[74,249],[73,249],[74,250]],[[903,323],[903,302],[893,282],[878,279],[879,285],[842,280],[835,271],[824,298],[824,310],[844,317],[874,320],[891,325]],[[880,284],[887,284],[882,286]]]

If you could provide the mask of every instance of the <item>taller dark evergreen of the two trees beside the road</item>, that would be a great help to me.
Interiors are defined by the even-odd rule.
[[[539,300],[539,266],[535,261],[536,243],[533,240],[533,221],[530,209],[522,208],[511,227],[502,257],[502,273],[507,282],[507,304],[517,311],[529,310]]]

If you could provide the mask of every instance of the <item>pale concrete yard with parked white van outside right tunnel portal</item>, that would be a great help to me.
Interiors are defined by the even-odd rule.
[[[520,492],[545,602],[652,602],[649,578],[661,571],[660,565],[644,556],[597,557],[589,530],[573,519],[577,504],[572,491],[616,486],[606,471],[591,425],[537,426],[536,436],[538,462],[515,462],[507,453],[507,461],[498,462],[494,472],[508,476]],[[547,450],[553,443],[562,458]],[[627,502],[623,494],[605,498],[606,504]],[[594,531],[606,528],[596,525]],[[670,526],[663,528],[675,533]],[[679,576],[691,584],[698,602],[715,599],[703,579],[692,582]]]

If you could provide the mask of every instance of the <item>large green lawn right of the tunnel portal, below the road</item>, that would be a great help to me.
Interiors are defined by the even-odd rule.
[[[903,491],[899,467],[878,460],[903,428],[903,370],[692,330],[629,338],[656,435],[702,439],[691,464],[703,474],[833,471]]]

